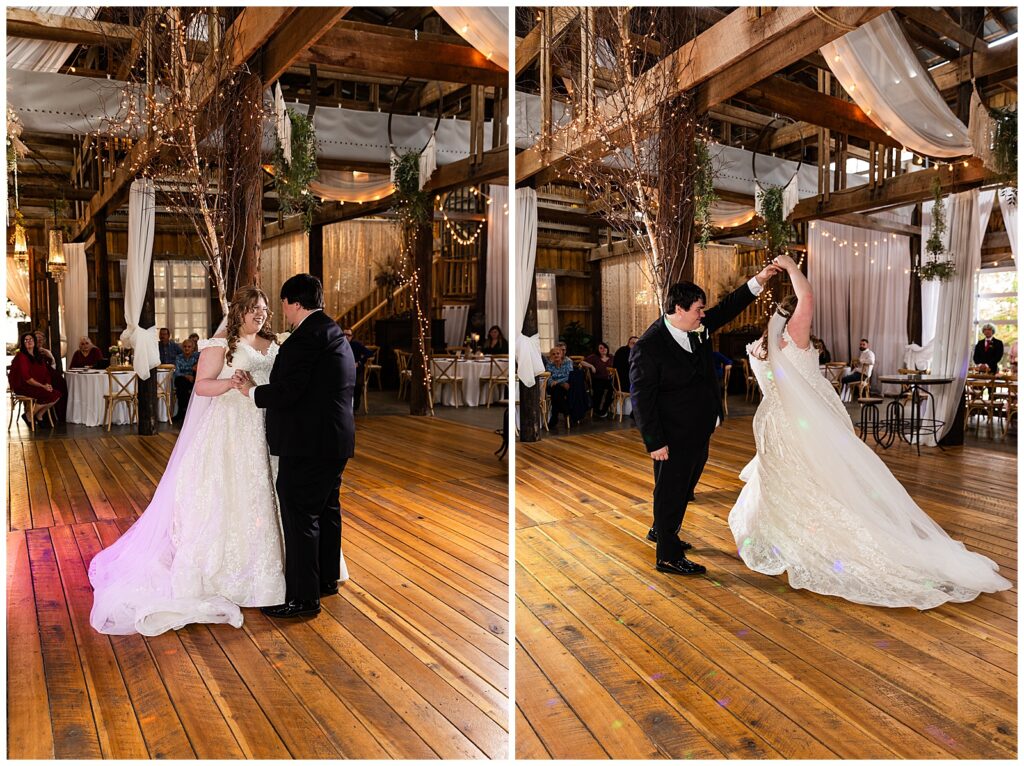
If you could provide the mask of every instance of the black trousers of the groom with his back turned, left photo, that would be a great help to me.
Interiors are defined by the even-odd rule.
[[[278,499],[285,531],[288,601],[313,601],[338,582],[341,567],[341,474],[347,458],[282,456]]]

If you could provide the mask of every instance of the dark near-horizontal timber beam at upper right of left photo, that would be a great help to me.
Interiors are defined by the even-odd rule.
[[[434,42],[383,32],[385,28],[352,23],[336,26],[297,61],[342,72],[379,73],[415,80],[507,87],[508,72],[468,45]],[[389,32],[395,32],[390,30]]]

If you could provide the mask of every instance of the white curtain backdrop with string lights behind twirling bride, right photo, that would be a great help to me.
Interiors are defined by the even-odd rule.
[[[906,217],[901,212],[891,219]],[[867,338],[874,375],[895,374],[907,342],[908,238],[817,221],[808,229],[807,249],[814,335],[835,360],[856,357],[860,339]]]

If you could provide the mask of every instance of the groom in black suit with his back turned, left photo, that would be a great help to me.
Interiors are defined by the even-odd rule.
[[[324,313],[324,288],[312,274],[281,286],[292,334],[266,385],[236,373],[243,393],[266,410],[266,440],[280,457],[278,498],[285,531],[285,603],[272,618],[319,613],[319,597],[338,592],[341,474],[354,453],[355,359],[337,323]]]

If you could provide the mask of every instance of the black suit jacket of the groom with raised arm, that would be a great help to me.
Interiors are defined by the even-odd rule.
[[[754,301],[743,285],[705,312],[707,331],[685,351],[665,326],[665,316],[647,328],[630,354],[633,414],[647,452],[669,446],[705,448],[722,413],[722,391],[715,375],[711,334]]]

